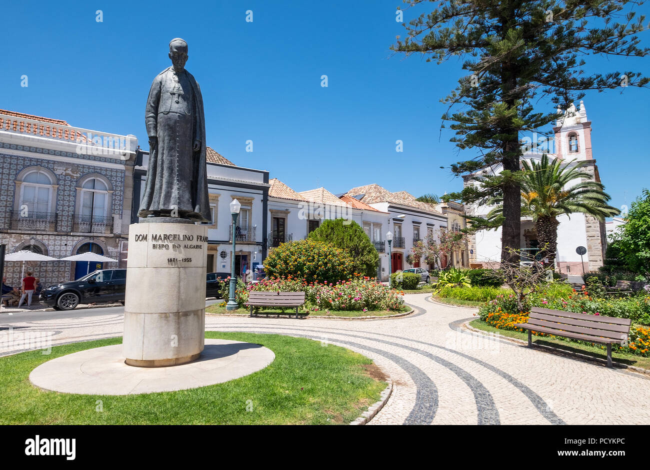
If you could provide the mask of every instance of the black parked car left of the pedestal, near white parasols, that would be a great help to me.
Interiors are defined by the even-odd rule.
[[[123,302],[125,289],[126,269],[100,269],[44,288],[39,300],[55,310],[72,310],[81,303]]]

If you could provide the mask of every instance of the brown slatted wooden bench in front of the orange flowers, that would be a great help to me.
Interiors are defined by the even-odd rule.
[[[515,327],[528,330],[528,347],[532,347],[532,331],[607,345],[607,367],[612,367],[612,343],[627,343],[630,325],[629,318],[533,307],[528,323],[516,323]]]

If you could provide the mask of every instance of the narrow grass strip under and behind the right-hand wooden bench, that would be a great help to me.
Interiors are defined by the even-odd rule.
[[[502,336],[508,336],[509,338],[517,338],[519,340],[528,341],[528,332],[501,330],[491,325],[487,325],[487,323],[485,323],[480,319],[475,319],[470,321],[469,325],[471,327],[476,328],[477,330],[498,332]],[[534,344],[552,346],[557,349],[563,349],[564,351],[585,354],[587,356],[592,356],[595,358],[607,360],[607,350],[606,350],[606,346],[604,345],[590,346],[590,345],[584,345],[581,343],[575,343],[567,340],[561,340],[559,338],[547,338],[541,336],[533,336],[532,342]],[[614,362],[620,362],[621,364],[634,365],[636,367],[642,367],[643,369],[650,369],[650,358],[635,356],[634,354],[629,354],[629,353],[617,353],[616,351],[614,351],[613,347],[612,347],[612,360],[614,360]]]

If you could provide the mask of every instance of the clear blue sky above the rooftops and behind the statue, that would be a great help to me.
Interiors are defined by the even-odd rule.
[[[55,6],[54,6],[55,5]],[[439,129],[460,62],[391,56],[404,28],[400,0],[5,2],[0,108],[72,125],[135,134],[148,148],[144,105],[170,65],[168,42],[189,43],[201,85],[208,145],[244,167],[266,169],[296,191],[333,193],[376,182],[388,190],[452,192],[440,169],[459,159]],[[102,10],[103,22],[96,21]],[[253,11],[247,23],[246,10]],[[649,11],[643,6],[641,12]],[[414,12],[404,12],[405,19]],[[647,19],[646,19],[647,23]],[[650,33],[641,35],[650,45]],[[588,58],[587,71],[642,71],[650,58]],[[328,87],[320,86],[328,75]],[[27,75],[29,86],[20,86]],[[589,92],[593,156],[612,204],[649,187],[650,90]],[[539,103],[540,110],[546,104]],[[253,152],[246,152],[246,141]],[[395,151],[396,140],[404,151]]]

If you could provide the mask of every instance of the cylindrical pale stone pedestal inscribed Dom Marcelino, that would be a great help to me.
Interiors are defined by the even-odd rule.
[[[185,364],[204,345],[207,227],[145,220],[129,227],[122,353],[140,367]]]

